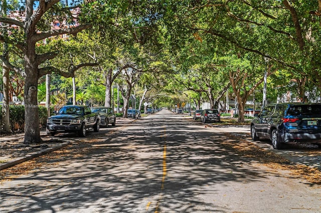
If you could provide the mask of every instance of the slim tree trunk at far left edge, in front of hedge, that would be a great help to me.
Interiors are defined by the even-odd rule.
[[[3,132],[10,132],[10,114],[9,114],[9,69],[3,65],[3,81],[4,81],[4,100],[2,106],[2,123],[3,123]]]

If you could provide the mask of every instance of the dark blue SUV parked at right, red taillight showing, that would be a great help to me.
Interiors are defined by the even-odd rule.
[[[269,104],[251,121],[251,136],[270,139],[275,149],[293,143],[321,147],[321,103]]]

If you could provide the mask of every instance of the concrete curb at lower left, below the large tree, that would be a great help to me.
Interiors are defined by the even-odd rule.
[[[0,164],[0,170],[2,170],[4,168],[11,167],[13,165],[16,165],[16,164],[19,164],[19,163],[22,163],[22,162],[25,162],[27,160],[30,160],[30,159],[34,158],[34,157],[39,157],[39,156],[41,156],[43,154],[46,154],[48,152],[55,151],[55,150],[57,150],[57,149],[59,149],[61,147],[69,145],[69,144],[71,144],[70,141],[64,142],[64,143],[61,143],[59,145],[55,145],[55,146],[50,147],[50,148],[45,148],[45,149],[43,149],[41,151],[37,151],[37,152],[34,152],[32,154],[28,154],[28,155],[26,155],[24,157],[20,157],[20,158],[14,159],[14,160],[10,160],[8,162],[1,163]]]

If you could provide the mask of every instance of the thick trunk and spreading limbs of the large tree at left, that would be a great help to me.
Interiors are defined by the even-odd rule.
[[[0,17],[0,21],[8,24],[7,30],[11,32],[13,26],[18,28],[16,33],[8,33],[0,35],[0,41],[10,43],[22,52],[24,59],[24,68],[14,67],[7,58],[2,57],[7,67],[16,70],[25,77],[25,143],[40,142],[39,112],[38,112],[38,79],[39,77],[51,73],[52,70],[59,72],[54,67],[44,64],[45,61],[54,58],[57,53],[54,51],[39,54],[36,50],[37,43],[51,36],[62,34],[75,34],[83,29],[91,27],[91,24],[79,24],[73,27],[62,27],[60,29],[52,29],[50,24],[45,24],[48,17],[55,17],[59,12],[65,11],[65,17],[69,16],[69,20],[76,18],[68,8],[63,8],[59,4],[60,0],[41,0],[36,9],[34,9],[34,1],[26,0],[25,10],[23,12],[24,19],[15,17]],[[78,5],[81,6],[81,5]],[[61,14],[61,13],[60,13]],[[49,23],[52,20],[49,20]],[[60,73],[69,75],[71,73]]]

